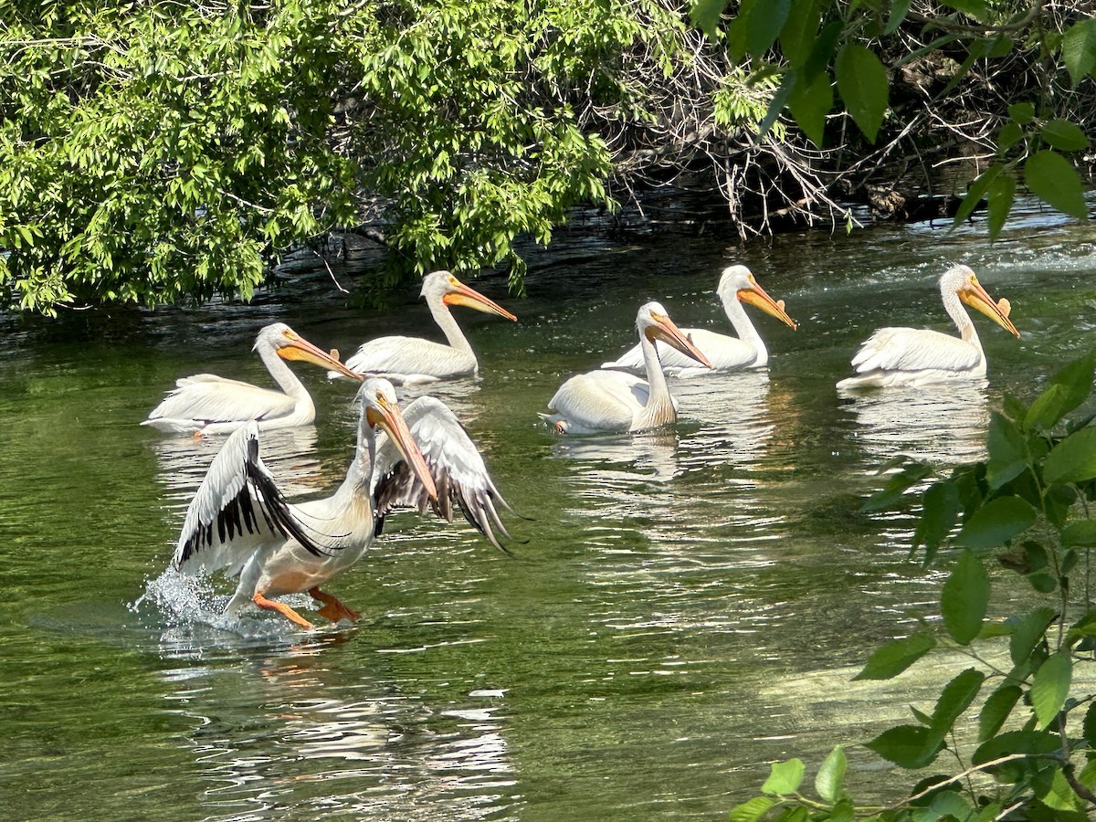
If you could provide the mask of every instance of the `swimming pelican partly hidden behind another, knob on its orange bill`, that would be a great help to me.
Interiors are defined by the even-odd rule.
[[[711,362],[711,368],[700,368],[685,354],[663,343],[658,343],[659,358],[662,370],[671,376],[697,377],[717,372],[732,372],[740,368],[761,368],[768,363],[768,350],[761,339],[757,329],[750,321],[750,316],[742,308],[742,302],[757,306],[765,313],[772,315],[781,322],[796,328],[796,322],[784,310],[784,300],[774,300],[754,278],[753,273],[744,265],[731,265],[723,269],[719,277],[716,294],[723,304],[727,319],[731,321],[738,336],[717,334],[703,328],[685,328],[682,333],[692,340]],[[602,368],[621,368],[638,372],[643,368],[643,352],[639,345],[625,352],[612,363],[605,363]]]

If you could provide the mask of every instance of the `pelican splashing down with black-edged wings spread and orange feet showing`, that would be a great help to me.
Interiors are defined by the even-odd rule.
[[[510,507],[483,459],[453,412],[421,397],[401,413],[386,379],[358,391],[357,449],[339,489],[323,500],[289,503],[259,457],[259,427],[247,423],[217,453],[191,501],[173,558],[182,573],[224,570],[239,575],[226,613],[253,603],[302,628],[311,623],[272,597],[308,592],[331,621],[357,619],[321,591],[354,564],[380,533],[393,507],[429,504],[446,520],[456,502],[468,521],[499,548],[494,529],[509,536],[495,503]],[[379,427],[386,437],[375,438]]]

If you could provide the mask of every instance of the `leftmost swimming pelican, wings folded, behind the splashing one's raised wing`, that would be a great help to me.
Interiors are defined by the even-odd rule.
[[[165,434],[195,435],[226,434],[249,421],[254,421],[260,430],[308,425],[316,419],[316,406],[283,359],[304,359],[362,379],[339,362],[338,352],[321,351],[284,322],[260,331],[253,350],[259,352],[281,391],[213,374],[195,374],[178,380],[176,388],[152,409],[141,425],[151,425]]]

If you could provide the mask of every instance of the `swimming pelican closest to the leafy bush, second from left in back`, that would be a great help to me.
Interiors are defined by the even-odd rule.
[[[479,372],[479,363],[468,338],[449,312],[449,306],[467,306],[507,320],[517,319],[447,271],[435,271],[423,277],[420,296],[426,298],[430,313],[445,334],[447,345],[420,336],[380,336],[364,343],[346,359],[346,367],[358,374],[386,377],[397,385],[472,376]],[[328,376],[338,375],[329,373]]]

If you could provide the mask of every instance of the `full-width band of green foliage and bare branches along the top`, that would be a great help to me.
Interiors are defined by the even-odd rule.
[[[520,288],[515,240],[576,206],[672,186],[746,237],[955,158],[991,232],[1017,182],[1082,216],[1096,20],[1073,5],[0,0],[0,299],[248,298],[363,226],[391,282]]]

